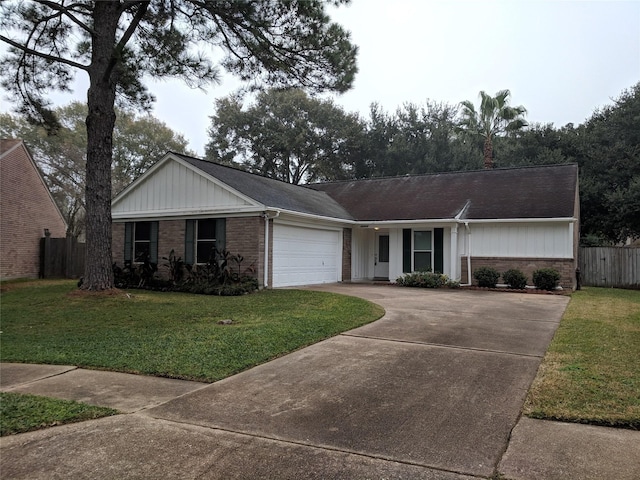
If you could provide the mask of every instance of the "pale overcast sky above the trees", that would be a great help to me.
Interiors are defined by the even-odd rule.
[[[529,122],[560,127],[640,81],[640,0],[352,0],[329,13],[359,46],[353,89],[335,101],[365,118],[373,102],[387,112],[427,99],[477,104],[480,90],[506,88]],[[179,81],[149,86],[153,114],[203,155],[214,100],[240,83],[224,77],[206,92]],[[0,110],[10,108],[3,99]]]

